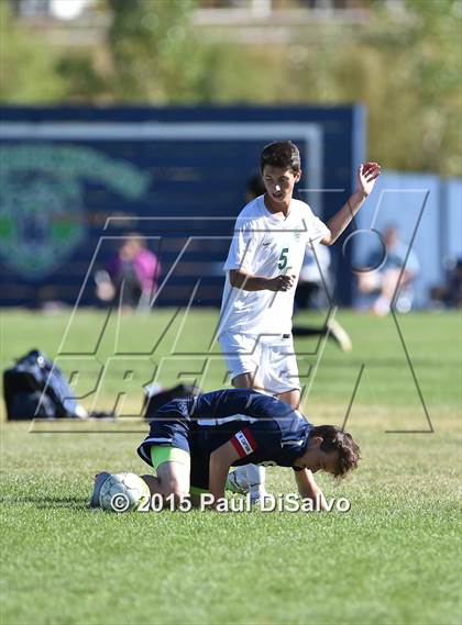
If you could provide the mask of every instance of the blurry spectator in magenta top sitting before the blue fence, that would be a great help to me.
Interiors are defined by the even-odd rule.
[[[161,264],[157,256],[147,249],[145,241],[131,233],[123,241],[117,255],[107,267],[110,280],[97,281],[97,294],[102,300],[116,299],[124,310],[147,311],[157,289]],[[109,295],[109,297],[108,297]]]

